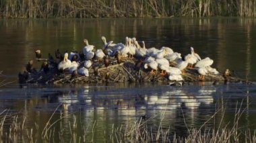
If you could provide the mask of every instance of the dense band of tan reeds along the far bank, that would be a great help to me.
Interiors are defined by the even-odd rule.
[[[256,1],[246,0],[1,0],[0,16],[53,17],[210,17],[256,16]]]

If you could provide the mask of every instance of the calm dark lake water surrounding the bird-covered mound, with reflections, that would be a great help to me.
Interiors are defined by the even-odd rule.
[[[187,128],[216,128],[232,122],[237,107],[245,109],[241,129],[255,130],[256,87],[242,83],[191,83],[171,87],[160,83],[119,83],[91,85],[18,85],[18,73],[35,59],[34,50],[42,56],[61,51],[82,50],[84,38],[102,47],[101,36],[115,43],[124,42],[125,36],[145,41],[146,47],[169,46],[176,52],[189,53],[193,46],[201,57],[209,56],[214,67],[226,68],[243,79],[256,81],[256,19],[224,18],[159,18],[159,19],[0,19],[1,81],[13,81],[0,89],[0,110],[9,109],[26,117],[25,127],[34,123],[44,127],[57,109],[53,120],[63,117],[55,128],[63,126],[65,141],[69,142],[69,123],[77,122],[77,134],[82,126],[94,128],[95,142],[108,138],[113,126],[131,126],[141,116],[147,125],[158,130],[162,120],[170,134],[188,134]],[[35,67],[40,67],[35,62]],[[59,105],[67,105],[67,109]],[[214,119],[210,117],[218,113]],[[221,120],[221,114],[225,114]],[[74,120],[76,119],[76,120]],[[232,124],[230,125],[232,126]],[[42,129],[41,129],[42,130]],[[58,141],[58,140],[57,140]]]

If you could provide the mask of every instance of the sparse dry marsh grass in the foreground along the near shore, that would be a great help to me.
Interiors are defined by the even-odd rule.
[[[238,107],[239,106],[239,107]],[[57,107],[59,109],[59,107]],[[83,126],[79,132],[77,132],[77,119],[73,116],[73,122],[68,123],[68,128],[64,128],[63,116],[58,120],[53,120],[57,109],[53,112],[48,122],[44,127],[39,127],[38,123],[34,123],[32,128],[28,128],[25,125],[26,117],[21,115],[9,113],[4,110],[0,113],[0,140],[1,142],[94,142],[96,134],[96,121],[90,127]],[[187,136],[177,136],[177,134],[170,133],[170,127],[166,128],[162,126],[164,120],[164,113],[160,117],[160,123],[158,128],[153,130],[151,126],[148,126],[154,117],[148,120],[136,120],[134,124],[130,126],[116,127],[114,124],[112,130],[106,134],[104,132],[105,142],[111,140],[112,142],[256,142],[255,131],[244,129],[238,126],[241,116],[246,111],[242,110],[241,105],[236,105],[236,111],[234,113],[234,120],[228,124],[224,123],[225,109],[217,109],[214,115],[209,118],[200,128],[188,128]],[[221,112],[220,123],[217,127],[205,128],[205,124],[210,120],[216,120],[216,116]],[[186,124],[186,119],[184,118]],[[56,125],[60,126],[57,130]],[[187,124],[186,124],[187,126]],[[67,133],[69,137],[67,137]],[[97,138],[97,137],[96,137]]]

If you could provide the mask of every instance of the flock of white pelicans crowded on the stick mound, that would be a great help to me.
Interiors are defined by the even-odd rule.
[[[89,44],[88,39],[84,39],[85,46],[81,52],[61,53],[57,49],[55,51],[55,57],[59,59],[56,65],[57,70],[62,73],[67,71],[66,73],[72,75],[89,77],[90,68],[98,74],[96,64],[102,64],[108,68],[111,59],[115,59],[117,64],[125,62],[126,59],[133,59],[136,63],[134,70],[143,68],[149,71],[149,74],[164,76],[170,81],[183,81],[183,75],[187,69],[194,70],[199,75],[199,80],[202,81],[207,74],[220,74],[216,68],[211,67],[214,60],[209,57],[201,58],[193,47],[189,48],[189,54],[183,55],[167,46],[146,47],[144,41],[137,41],[136,38],[125,37],[124,44],[108,42],[104,36],[101,37],[101,40],[101,48]],[[35,53],[36,58],[41,58],[40,50],[36,50]],[[49,60],[49,62],[51,61]]]

